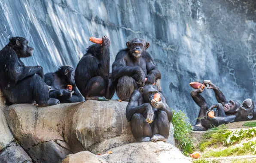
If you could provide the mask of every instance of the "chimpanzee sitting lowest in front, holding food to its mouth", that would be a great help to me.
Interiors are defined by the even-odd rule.
[[[153,99],[155,93],[161,95],[159,102]],[[134,90],[126,107],[126,118],[131,121],[131,132],[138,142],[165,142],[168,139],[172,111],[154,85]]]

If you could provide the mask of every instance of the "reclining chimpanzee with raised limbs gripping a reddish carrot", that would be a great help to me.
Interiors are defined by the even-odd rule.
[[[208,110],[216,108],[214,116],[224,117],[226,115],[234,115],[236,113],[236,109],[240,106],[240,104],[237,101],[230,100],[228,102],[224,94],[222,94],[219,88],[216,87],[216,85],[214,85],[210,80],[204,80],[203,84],[205,85],[205,87],[207,87],[208,84],[208,88],[213,89],[218,103],[209,108],[206,101],[204,100],[204,97],[200,95],[200,93],[204,91],[204,88],[202,88],[202,86],[190,92],[191,97],[193,98],[195,103],[198,106],[200,106],[198,119],[196,121],[195,126],[192,126],[194,131],[204,131],[212,126],[218,126],[218,124],[213,123],[213,121],[209,121],[205,118],[205,115]],[[220,107],[223,108],[224,112],[219,111]]]

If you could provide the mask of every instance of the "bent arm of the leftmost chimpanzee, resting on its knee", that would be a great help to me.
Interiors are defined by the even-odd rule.
[[[9,71],[9,77],[15,82],[34,74],[39,74],[44,79],[42,66],[20,66],[16,54],[8,55],[6,59],[6,71]]]

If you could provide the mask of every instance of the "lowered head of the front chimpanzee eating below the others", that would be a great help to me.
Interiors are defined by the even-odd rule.
[[[140,87],[139,91],[143,95],[143,99],[146,103],[150,103],[154,98],[154,94],[158,93],[158,90],[154,85],[145,85],[144,87]]]

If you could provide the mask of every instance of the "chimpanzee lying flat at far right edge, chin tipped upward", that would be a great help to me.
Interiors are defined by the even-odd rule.
[[[237,113],[235,115],[226,115],[221,117],[214,116],[213,118],[210,118],[208,116],[208,112],[210,112],[211,110],[209,110],[206,113],[206,117],[207,117],[207,120],[209,120],[211,123],[218,124],[218,125],[227,124],[231,122],[238,122],[238,121],[252,121],[252,120],[256,120],[255,105],[256,105],[256,101],[252,101],[251,99],[246,99],[238,107],[238,109],[236,110]],[[218,107],[218,106],[214,106],[214,107]],[[221,106],[219,107],[218,110],[219,112],[223,112],[223,114],[225,112],[225,108]]]

